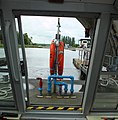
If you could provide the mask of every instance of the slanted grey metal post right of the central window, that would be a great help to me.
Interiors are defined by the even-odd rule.
[[[100,70],[102,67],[103,55],[110,26],[110,14],[102,13],[100,19],[97,21],[90,65],[88,69],[88,77],[83,100],[83,113],[85,115],[89,113],[94,102],[95,91],[97,89],[97,83],[100,76]]]

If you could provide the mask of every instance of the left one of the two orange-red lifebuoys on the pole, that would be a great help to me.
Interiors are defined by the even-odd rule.
[[[54,63],[55,63],[55,43],[54,41],[52,41],[52,43],[50,44],[50,74],[53,75],[54,74]]]

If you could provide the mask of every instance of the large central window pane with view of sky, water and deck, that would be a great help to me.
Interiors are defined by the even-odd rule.
[[[61,84],[62,82],[63,85],[56,85],[56,92],[54,90],[54,79],[51,78],[50,96],[47,90],[49,87],[48,77],[50,76],[50,44],[55,39],[55,34],[57,33],[58,18],[41,16],[22,16],[21,18],[26,47],[30,103],[54,106],[81,106],[91,49],[91,40],[81,39],[82,36],[83,38],[85,36],[85,28],[76,18],[60,18],[61,40],[65,42],[64,71],[62,77],[74,77],[74,92],[71,94],[72,81],[70,78],[57,78],[57,84]],[[33,26],[37,27],[34,28]],[[70,36],[66,33],[65,29],[68,32],[70,30]],[[79,32],[81,33],[80,36],[78,34],[79,29],[81,31]],[[73,33],[74,35],[76,33],[76,38],[71,37]],[[74,61],[75,63],[79,62],[86,72],[84,73],[80,69],[77,69],[80,66],[75,65],[75,67],[73,65]],[[42,90],[40,89],[40,80],[37,78],[42,78]],[[65,90],[66,85],[68,86],[67,93]]]

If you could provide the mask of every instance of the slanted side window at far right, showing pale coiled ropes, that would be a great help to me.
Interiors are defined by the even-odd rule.
[[[118,20],[113,20],[92,110],[116,110],[118,105]]]

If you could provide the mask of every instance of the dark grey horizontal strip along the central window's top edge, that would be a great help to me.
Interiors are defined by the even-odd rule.
[[[98,18],[99,13],[78,13],[78,12],[64,12],[64,11],[35,11],[35,10],[13,10],[15,16],[30,15],[30,16],[58,16],[58,17],[88,17]]]

